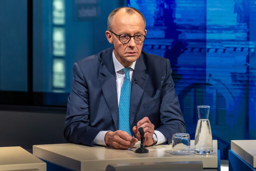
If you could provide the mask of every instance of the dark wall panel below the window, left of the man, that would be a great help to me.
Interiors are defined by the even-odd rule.
[[[66,143],[65,113],[1,110],[0,118],[0,146],[31,150],[35,144]]]

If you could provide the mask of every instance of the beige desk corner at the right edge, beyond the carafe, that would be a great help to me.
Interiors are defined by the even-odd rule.
[[[232,140],[231,150],[256,168],[256,140]]]

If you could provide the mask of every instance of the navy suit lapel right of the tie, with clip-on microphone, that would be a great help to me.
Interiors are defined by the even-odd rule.
[[[144,56],[141,53],[141,56],[137,59],[134,73],[133,73],[133,83],[131,90],[131,101],[130,101],[130,126],[133,123],[141,96],[144,92],[145,86],[149,75],[145,73],[146,66],[144,63]],[[136,81],[134,81],[136,80]]]

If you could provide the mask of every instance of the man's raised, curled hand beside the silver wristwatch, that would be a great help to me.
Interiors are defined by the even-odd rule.
[[[150,122],[150,120],[148,119],[148,117],[144,117],[142,120],[140,120],[137,123],[137,126],[134,126],[132,128],[132,131],[136,134],[137,138],[140,139],[140,132],[139,132],[139,128],[142,127],[145,134],[145,140],[144,140],[144,145],[146,146],[150,146],[154,143],[153,140],[153,133],[155,132],[155,126]]]

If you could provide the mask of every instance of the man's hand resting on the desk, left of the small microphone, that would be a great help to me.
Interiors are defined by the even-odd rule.
[[[127,149],[133,147],[135,143],[138,142],[138,139],[133,138],[125,131],[117,130],[115,132],[107,132],[104,141],[107,145],[116,149]]]

